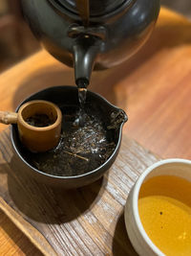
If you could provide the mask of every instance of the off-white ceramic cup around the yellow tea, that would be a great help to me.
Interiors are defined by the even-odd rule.
[[[161,160],[147,168],[132,188],[125,205],[125,225],[129,239],[140,256],[164,256],[146,234],[138,214],[138,194],[141,185],[158,175],[176,175],[191,181],[191,161],[179,158]]]

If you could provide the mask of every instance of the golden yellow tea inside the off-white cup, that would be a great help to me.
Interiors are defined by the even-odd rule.
[[[138,197],[140,221],[166,255],[191,255],[191,182],[160,175],[146,180]]]

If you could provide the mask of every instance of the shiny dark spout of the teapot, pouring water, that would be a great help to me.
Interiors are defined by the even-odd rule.
[[[81,35],[76,39],[74,44],[74,77],[77,87],[89,85],[99,50],[100,44],[94,36]]]

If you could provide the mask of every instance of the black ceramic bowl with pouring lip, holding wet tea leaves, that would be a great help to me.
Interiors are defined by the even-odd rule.
[[[55,105],[78,105],[78,94],[77,88],[75,86],[53,86],[44,90],[41,90],[29,98],[27,98],[21,105],[32,101],[32,100],[45,100],[53,102]],[[72,189],[77,187],[82,187],[93,183],[102,175],[105,174],[106,171],[110,169],[114,161],[116,160],[117,153],[120,148],[121,135],[122,135],[122,127],[124,123],[127,121],[127,116],[123,110],[118,108],[115,105],[111,105],[108,101],[106,101],[100,95],[88,91],[87,92],[87,102],[91,105],[96,105],[99,108],[99,113],[103,115],[103,120],[107,120],[110,118],[112,112],[122,111],[124,118],[122,122],[120,122],[117,129],[114,129],[110,132],[114,132],[114,138],[116,142],[116,149],[112,153],[112,155],[108,158],[108,160],[89,173],[83,175],[74,175],[74,176],[58,176],[58,175],[49,175],[43,173],[36,168],[32,167],[30,162],[25,157],[25,148],[22,146],[19,137],[17,126],[11,126],[11,143],[13,146],[13,150],[15,152],[15,157],[18,158],[21,164],[21,168],[28,175],[32,176],[36,181],[45,183],[47,185],[62,187],[65,189]],[[18,111],[19,105],[16,109]]]

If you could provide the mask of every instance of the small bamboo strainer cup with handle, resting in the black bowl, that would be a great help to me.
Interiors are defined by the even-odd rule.
[[[2,118],[3,113],[4,118]],[[38,128],[26,122],[28,118],[39,114],[46,114],[53,125]],[[53,103],[47,101],[28,102],[21,105],[18,113],[1,112],[0,121],[7,125],[17,124],[20,140],[30,151],[49,151],[59,143],[62,113],[59,107]]]

